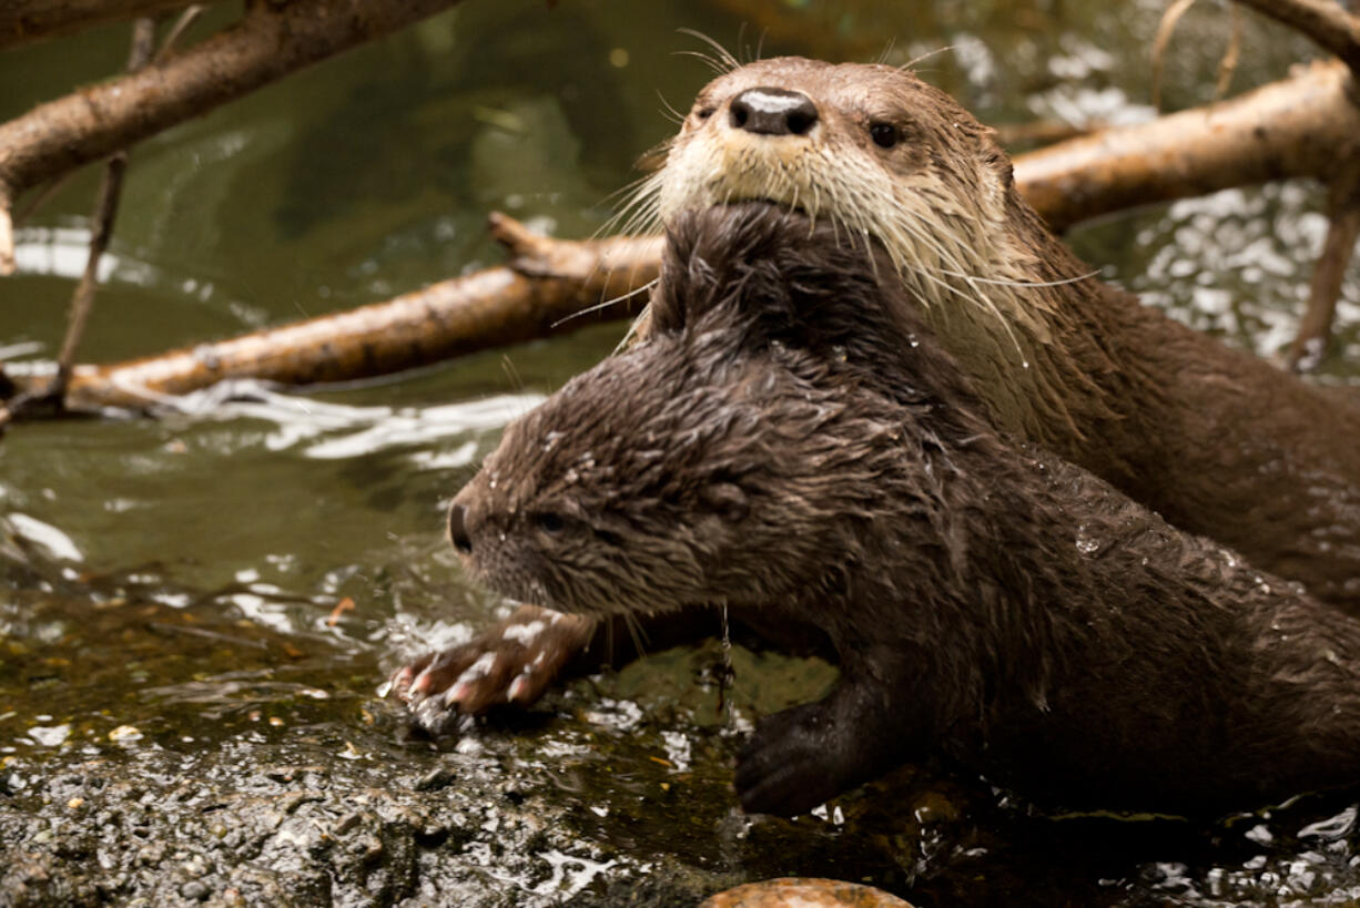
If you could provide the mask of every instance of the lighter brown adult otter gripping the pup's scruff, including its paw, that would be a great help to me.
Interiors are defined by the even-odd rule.
[[[990,130],[945,94],[900,69],[801,58],[719,76],[641,211],[665,224],[751,198],[877,238],[887,273],[972,377],[996,425],[1360,614],[1353,396],[1307,386],[1084,277],[1015,190]],[[525,628],[548,620],[521,609],[401,669],[396,691],[447,691],[469,712],[533,700],[598,635],[570,617],[525,646]],[[465,678],[488,654],[491,669]]]

